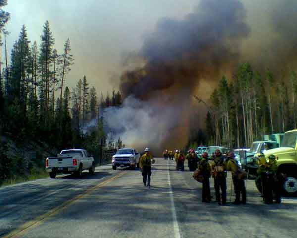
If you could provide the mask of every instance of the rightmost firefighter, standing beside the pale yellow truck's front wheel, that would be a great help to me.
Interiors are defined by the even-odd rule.
[[[275,155],[270,155],[268,157],[269,159],[269,167],[268,170],[271,172],[272,174],[272,179],[271,179],[271,183],[272,183],[272,191],[273,191],[273,195],[274,195],[274,199],[276,203],[281,203],[282,202],[282,198],[281,198],[281,184],[282,184],[282,176],[277,172],[277,164],[276,164],[276,157]]]

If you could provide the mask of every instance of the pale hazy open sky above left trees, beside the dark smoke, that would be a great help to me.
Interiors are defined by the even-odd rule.
[[[197,3],[198,0],[8,0],[8,53],[23,24],[29,40],[36,40],[39,45],[42,26],[48,20],[60,53],[64,41],[68,37],[71,41],[75,65],[66,84],[73,87],[86,75],[90,86],[105,94],[113,87],[117,89],[110,77],[120,74],[121,55],[139,49],[144,34],[153,31],[160,18],[182,18]]]

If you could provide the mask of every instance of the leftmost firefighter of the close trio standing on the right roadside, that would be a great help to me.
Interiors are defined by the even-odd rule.
[[[207,152],[204,152],[202,154],[202,159],[199,161],[198,169],[201,171],[201,174],[203,175],[203,182],[202,182],[202,202],[210,202],[211,196],[210,196],[210,184],[209,184],[209,178],[211,175],[211,169],[208,162],[208,154]]]

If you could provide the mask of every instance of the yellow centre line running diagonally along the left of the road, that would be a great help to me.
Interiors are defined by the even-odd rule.
[[[110,179],[107,179],[104,182],[99,183],[98,185],[89,188],[86,190],[86,192],[77,195],[76,197],[72,198],[70,201],[66,201],[64,202],[62,205],[50,210],[49,212],[45,213],[44,215],[41,215],[37,218],[35,218],[32,221],[26,222],[24,223],[22,226],[20,226],[19,228],[11,231],[10,233],[8,233],[7,235],[5,235],[2,238],[16,238],[19,237],[20,235],[23,235],[24,233],[32,230],[33,228],[41,225],[43,222],[45,222],[46,220],[48,220],[50,217],[55,216],[57,214],[59,214],[61,211],[67,209],[69,206],[71,206],[73,203],[75,203],[76,201],[78,201],[79,199],[83,198],[84,196],[90,194],[91,192],[93,192],[94,190],[105,186],[106,184],[112,182],[113,180],[119,178],[120,176],[126,174],[127,172],[121,172],[118,175],[111,177]]]

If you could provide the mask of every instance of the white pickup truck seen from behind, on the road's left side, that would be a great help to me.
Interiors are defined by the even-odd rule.
[[[73,173],[81,178],[83,170],[89,170],[90,174],[95,171],[94,158],[86,150],[62,150],[57,157],[46,159],[46,171],[49,172],[50,178],[55,178],[58,173]]]

